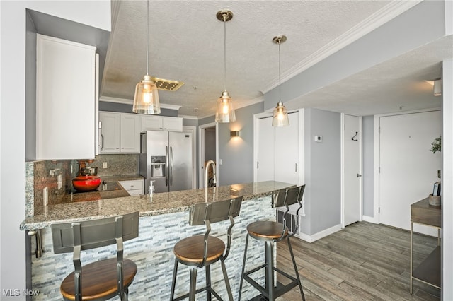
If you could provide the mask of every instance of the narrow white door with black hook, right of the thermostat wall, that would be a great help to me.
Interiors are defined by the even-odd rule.
[[[344,115],[344,220],[345,226],[360,220],[362,170],[360,161],[360,117]]]

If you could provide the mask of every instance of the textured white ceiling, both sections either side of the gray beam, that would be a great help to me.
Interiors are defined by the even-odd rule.
[[[418,3],[406,1],[403,9]],[[282,82],[402,11],[401,1],[149,1],[149,74],[183,81],[175,92],[159,91],[162,104],[198,118],[214,114],[224,90],[224,24],[217,11],[234,13],[226,23],[226,90],[235,107],[263,100],[278,84],[276,35],[281,45]],[[400,8],[401,9],[401,8]],[[147,1],[113,2],[101,100],[132,104],[146,73]],[[357,35],[353,37],[354,34]],[[351,37],[352,36],[352,37]],[[342,44],[343,43],[343,44]],[[368,115],[440,107],[425,79],[440,77],[440,61],[452,57],[452,38],[441,39],[314,90],[288,109]],[[329,50],[330,49],[330,50]],[[332,50],[333,49],[333,50]],[[196,87],[196,88],[195,88]]]

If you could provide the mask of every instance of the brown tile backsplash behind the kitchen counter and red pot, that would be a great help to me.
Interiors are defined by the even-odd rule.
[[[102,168],[107,163],[107,168]],[[97,155],[86,167],[98,167],[98,176],[137,175],[139,155]],[[60,203],[65,194],[71,193],[71,180],[79,172],[79,160],[40,160],[25,163],[25,215],[33,216],[44,210],[44,189],[47,187],[48,204]],[[62,187],[58,188],[59,175]]]

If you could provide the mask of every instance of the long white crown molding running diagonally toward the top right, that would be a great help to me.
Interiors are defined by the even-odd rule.
[[[358,23],[347,32],[343,33],[343,35],[340,35],[335,40],[332,40],[327,45],[321,47],[318,51],[311,54],[309,57],[306,57],[306,59],[299,62],[299,64],[294,65],[291,69],[289,69],[285,73],[282,73],[281,82],[284,83],[290,78],[297,76],[297,74],[302,73],[302,71],[305,71],[306,69],[309,69],[314,64],[319,63],[319,61],[322,61],[323,59],[326,59],[335,52],[338,52],[338,50],[344,48],[347,45],[350,45],[352,42],[360,39],[360,37],[367,35],[368,33],[372,32],[372,30],[379,28],[380,26],[389,22],[389,20],[396,18],[397,16],[401,15],[401,13],[408,11],[410,8],[422,1],[423,0],[391,1],[383,8],[379,9],[379,11],[373,13],[371,16]],[[263,93],[268,93],[270,90],[277,86],[278,79],[269,83],[268,88],[263,90]]]

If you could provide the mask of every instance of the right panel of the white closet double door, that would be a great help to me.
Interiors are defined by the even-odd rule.
[[[275,128],[275,181],[299,185],[299,113],[288,117],[289,126]]]

